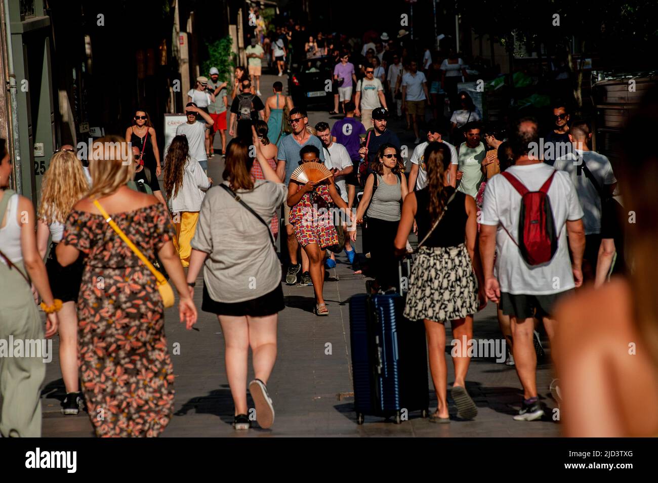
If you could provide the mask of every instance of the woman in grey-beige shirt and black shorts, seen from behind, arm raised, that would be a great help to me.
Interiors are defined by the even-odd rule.
[[[249,158],[251,144],[255,146],[265,181],[253,181],[249,174],[253,162]],[[256,405],[259,425],[269,428],[274,422],[274,408],[265,384],[276,359],[276,324],[278,312],[284,309],[284,296],[276,248],[267,222],[261,222],[258,217],[272,219],[286,198],[286,186],[263,156],[255,133],[251,143],[240,139],[228,143],[224,179],[222,185],[208,190],[201,204],[191,242],[188,285],[193,292],[203,266],[201,310],[215,313],[222,326],[236,430],[250,426],[246,379],[249,346],[255,371],[249,392]],[[222,186],[237,193],[257,216]]]

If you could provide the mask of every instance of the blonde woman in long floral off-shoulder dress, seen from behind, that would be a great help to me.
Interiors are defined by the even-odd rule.
[[[113,145],[114,143],[114,145]],[[99,200],[139,250],[164,265],[180,296],[180,321],[191,329],[197,311],[174,251],[166,208],[126,186],[133,164],[120,137],[96,141],[89,156],[93,186],[66,220],[55,250],[63,266],[86,254],[78,296],[80,375],[97,436],[158,436],[174,407],[174,371],[164,337],[156,279],[106,222]]]

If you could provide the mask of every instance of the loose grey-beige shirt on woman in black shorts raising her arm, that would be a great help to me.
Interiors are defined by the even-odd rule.
[[[288,190],[283,183],[258,179],[253,190],[237,193],[261,218],[270,220]],[[217,302],[253,300],[281,283],[281,264],[269,228],[219,186],[203,198],[191,246],[208,254],[203,283]]]

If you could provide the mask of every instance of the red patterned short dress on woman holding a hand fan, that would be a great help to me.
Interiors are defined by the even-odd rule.
[[[338,244],[338,235],[330,216],[333,206],[329,187],[323,183],[317,185],[315,191],[304,193],[301,200],[290,208],[290,224],[301,246],[316,243],[320,248],[326,248]]]

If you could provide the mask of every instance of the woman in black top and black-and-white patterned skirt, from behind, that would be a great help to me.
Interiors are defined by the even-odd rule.
[[[430,417],[430,421],[435,423],[450,422],[444,355],[443,324],[446,321],[451,321],[453,337],[457,340],[452,351],[455,382],[451,390],[457,404],[457,416],[473,419],[478,414],[465,388],[470,362],[467,345],[473,336],[473,314],[486,304],[482,290],[482,267],[476,250],[475,200],[451,187],[450,159],[450,151],[445,144],[435,141],[428,145],[424,154],[427,187],[409,193],[405,198],[395,238],[397,253],[404,254],[407,237],[416,219],[418,240],[424,240],[424,243],[420,243],[422,246],[409,277],[405,317],[411,321],[422,320],[425,324],[430,371],[438,399],[438,409]],[[432,230],[440,216],[442,218]]]

